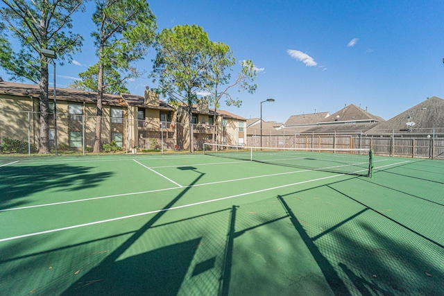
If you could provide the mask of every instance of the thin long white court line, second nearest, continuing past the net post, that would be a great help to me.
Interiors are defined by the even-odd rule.
[[[384,162],[384,161],[386,161],[386,159],[378,160],[377,162]],[[407,161],[407,162],[409,162],[409,161]],[[403,164],[403,163],[404,162],[400,162],[400,163],[396,163],[396,164]],[[396,165],[396,164],[388,164],[386,166],[393,166],[393,165]],[[377,168],[384,168],[386,166],[379,166]],[[101,199],[105,199],[105,198],[118,198],[118,197],[121,197],[121,196],[128,196],[128,195],[138,195],[138,194],[154,193],[154,192],[169,191],[169,190],[180,189],[180,188],[207,186],[207,185],[221,184],[221,183],[228,183],[228,182],[238,182],[238,181],[252,180],[252,179],[257,179],[257,178],[262,178],[262,177],[273,177],[273,176],[278,176],[278,175],[289,175],[289,174],[296,174],[296,173],[305,173],[305,172],[308,172],[308,171],[313,171],[313,170],[302,170],[302,171],[292,171],[292,172],[286,172],[286,173],[275,173],[275,174],[269,174],[269,175],[259,175],[259,176],[253,176],[253,177],[243,177],[243,178],[239,178],[239,179],[223,180],[223,181],[209,182],[209,183],[203,183],[203,184],[194,184],[194,185],[188,185],[188,186],[183,186],[183,187],[172,187],[172,188],[155,189],[155,190],[149,190],[149,191],[139,191],[139,192],[121,193],[121,194],[114,194],[114,195],[105,195],[105,196],[98,196],[96,198],[84,198],[82,200],[68,200],[66,202],[52,202],[52,203],[49,203],[49,204],[35,204],[35,205],[32,205],[32,206],[27,206],[27,207],[0,209],[0,213],[2,211],[17,211],[17,210],[20,210],[20,209],[33,209],[33,208],[37,208],[37,207],[50,207],[50,206],[55,206],[55,205],[59,205],[59,204],[71,204],[71,203],[74,203],[74,202],[87,202],[89,200],[101,200]]]

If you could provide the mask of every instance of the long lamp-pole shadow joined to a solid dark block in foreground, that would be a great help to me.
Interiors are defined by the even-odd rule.
[[[205,175],[196,171],[194,167],[180,169],[194,171],[199,175],[153,218],[77,281],[77,284],[67,288],[62,295],[177,295],[201,238],[145,252],[123,261],[119,260],[119,257]]]

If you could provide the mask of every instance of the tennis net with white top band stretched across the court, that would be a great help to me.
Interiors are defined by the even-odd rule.
[[[373,151],[346,148],[260,148],[205,143],[205,155],[372,177]]]

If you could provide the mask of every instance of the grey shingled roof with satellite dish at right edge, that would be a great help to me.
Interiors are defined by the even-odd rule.
[[[444,100],[436,96],[427,98],[418,105],[411,107],[392,119],[380,123],[366,134],[384,132],[411,132],[413,129],[443,128],[444,127]]]

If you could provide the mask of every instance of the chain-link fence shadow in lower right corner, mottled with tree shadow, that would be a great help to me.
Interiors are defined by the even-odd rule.
[[[443,245],[346,194],[348,181],[278,196],[334,293],[440,294]]]

